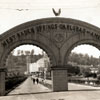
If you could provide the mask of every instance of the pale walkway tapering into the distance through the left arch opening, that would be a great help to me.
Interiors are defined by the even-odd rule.
[[[41,84],[33,84],[33,81],[29,77],[24,81],[20,86],[16,87],[13,91],[11,91],[9,95],[18,95],[18,94],[33,94],[33,93],[41,93],[41,92],[50,92],[47,87],[44,87]]]

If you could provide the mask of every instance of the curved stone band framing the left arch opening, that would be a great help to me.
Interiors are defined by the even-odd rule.
[[[51,48],[47,47],[45,44],[36,42],[34,40],[31,40],[31,39],[16,42],[11,47],[9,47],[6,51],[3,51],[3,56],[2,56],[2,59],[1,59],[1,65],[5,66],[7,56],[10,54],[10,52],[13,49],[15,49],[16,47],[19,47],[21,45],[27,45],[27,44],[28,45],[35,45],[35,46],[43,49],[48,54],[48,57],[50,58],[51,65],[53,65],[53,66],[56,65],[56,60],[55,60],[55,57],[54,57],[54,54],[53,54]]]

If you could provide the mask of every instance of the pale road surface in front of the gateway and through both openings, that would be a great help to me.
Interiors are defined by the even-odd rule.
[[[52,92],[41,84],[33,85],[28,78],[8,96],[0,100],[100,100],[100,87],[69,84],[69,91]]]

